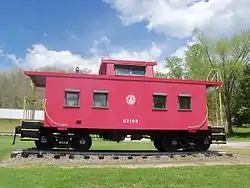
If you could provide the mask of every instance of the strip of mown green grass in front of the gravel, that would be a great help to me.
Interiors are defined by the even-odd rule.
[[[2,168],[0,187],[249,187],[250,166],[204,166],[151,169]]]

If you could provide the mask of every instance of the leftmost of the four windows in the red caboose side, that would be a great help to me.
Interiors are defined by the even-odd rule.
[[[65,90],[64,106],[79,107],[80,106],[80,91],[79,90]]]

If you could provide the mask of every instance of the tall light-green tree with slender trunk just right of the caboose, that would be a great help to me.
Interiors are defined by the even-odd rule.
[[[224,82],[222,100],[230,136],[233,133],[232,118],[237,104],[235,95],[244,67],[249,62],[250,32],[234,35],[231,40],[221,39],[210,51],[211,55],[208,53],[208,57],[213,66],[220,70]]]

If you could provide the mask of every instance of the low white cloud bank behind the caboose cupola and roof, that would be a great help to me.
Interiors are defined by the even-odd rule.
[[[139,52],[119,49],[116,52],[110,52],[102,55],[101,47],[103,43],[110,43],[107,37],[102,37],[98,41],[94,41],[94,47],[91,49],[93,55],[91,57],[83,57],[79,54],[73,54],[68,50],[55,51],[46,48],[43,44],[33,45],[27,50],[24,58],[17,58],[14,54],[4,53],[4,56],[12,63],[24,69],[38,69],[46,66],[56,66],[58,68],[74,68],[79,66],[81,69],[90,69],[92,73],[97,73],[102,58],[126,59],[126,60],[143,60],[156,61],[162,51],[156,44],[145,48]]]

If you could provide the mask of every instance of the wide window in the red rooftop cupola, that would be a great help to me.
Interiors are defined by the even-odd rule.
[[[144,76],[146,74],[146,67],[134,65],[116,65],[115,72],[116,75]]]

